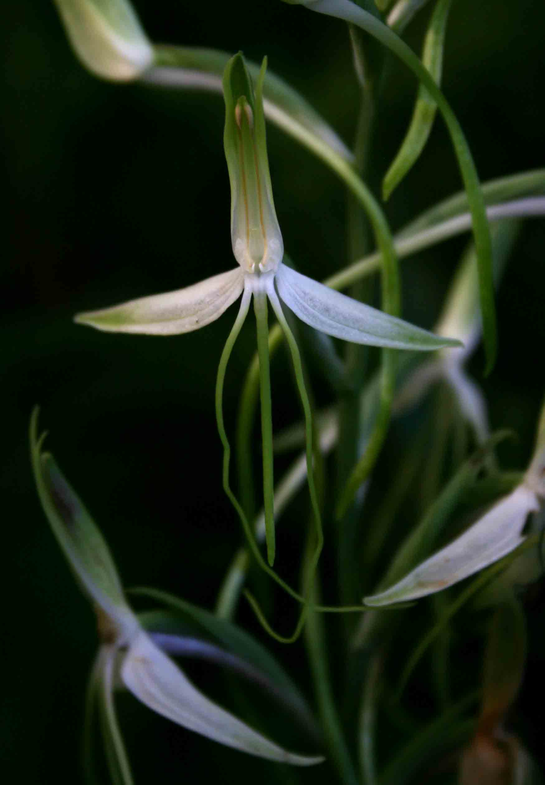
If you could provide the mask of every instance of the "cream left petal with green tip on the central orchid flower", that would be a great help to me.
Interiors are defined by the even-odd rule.
[[[100,311],[79,313],[75,321],[108,333],[189,333],[219,319],[240,297],[243,287],[243,272],[237,267],[185,289],[152,294]]]

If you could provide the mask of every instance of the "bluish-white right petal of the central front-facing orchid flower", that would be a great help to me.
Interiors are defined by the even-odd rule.
[[[422,351],[460,345],[353,300],[287,265],[280,265],[276,287],[280,299],[302,322],[344,341]]]

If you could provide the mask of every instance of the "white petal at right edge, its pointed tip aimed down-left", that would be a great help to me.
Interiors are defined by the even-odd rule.
[[[524,541],[522,530],[526,518],[537,509],[536,494],[519,485],[454,542],[423,561],[390,589],[364,597],[364,603],[378,607],[415,600],[488,567]]]

